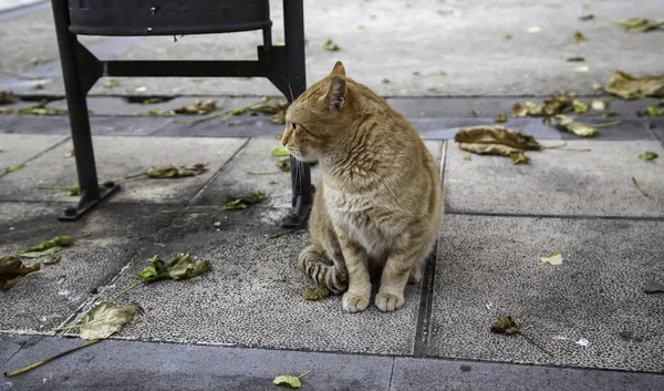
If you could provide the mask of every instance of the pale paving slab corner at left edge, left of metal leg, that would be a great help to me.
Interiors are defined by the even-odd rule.
[[[7,167],[14,166],[17,164],[25,164],[27,162],[38,157],[40,154],[46,153],[50,148],[56,147],[59,144],[66,140],[65,136],[56,135],[44,135],[44,136],[30,136],[24,134],[2,134],[0,133],[0,167],[2,172]],[[7,189],[9,175],[17,174],[9,173],[4,176],[0,176],[0,183],[2,187]]]

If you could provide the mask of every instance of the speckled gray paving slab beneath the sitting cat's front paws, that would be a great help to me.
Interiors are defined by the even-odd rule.
[[[419,307],[419,286],[408,286],[405,307],[382,313],[373,305],[347,313],[341,297],[307,301],[310,282],[297,266],[308,233],[276,239],[277,224],[261,212],[186,214],[172,226],[170,244],[146,245],[103,299],[136,281],[135,274],[158,255],[170,259],[190,253],[211,263],[212,271],[183,281],[163,281],[131,290],[118,303],[135,301],[143,322],[125,327],[122,338],[269,349],[412,354]],[[225,218],[227,217],[227,218]],[[215,219],[219,222],[214,226]],[[177,235],[177,236],[176,236]],[[366,333],[366,329],[374,330]]]

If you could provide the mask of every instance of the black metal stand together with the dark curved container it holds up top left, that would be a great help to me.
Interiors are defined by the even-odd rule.
[[[287,96],[307,89],[302,0],[283,0],[286,44],[272,45],[268,0],[51,0],[64,78],[66,103],[76,151],[81,198],[61,220],[75,220],[108,197],[120,185],[98,185],[86,95],[103,76],[262,76]],[[122,6],[121,6],[122,3]],[[257,61],[104,61],[76,38],[89,35],[179,35],[262,30]],[[282,222],[302,225],[311,209],[309,166],[291,157],[292,207]]]

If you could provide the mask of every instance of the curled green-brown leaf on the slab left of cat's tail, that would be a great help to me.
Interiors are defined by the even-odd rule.
[[[194,263],[189,254],[180,254],[168,264],[154,256],[149,263],[148,267],[137,274],[146,284],[163,279],[187,279],[212,270],[209,261],[197,260]]]

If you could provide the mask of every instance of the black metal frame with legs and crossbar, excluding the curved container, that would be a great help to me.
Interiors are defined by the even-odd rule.
[[[302,0],[283,0],[286,45],[271,44],[270,29],[263,30],[258,61],[102,61],[70,32],[68,0],[51,0],[62,63],[72,141],[76,151],[76,172],[81,198],[65,209],[61,220],[76,220],[102,199],[120,188],[118,184],[98,184],[86,95],[100,78],[267,78],[289,102],[307,90],[304,65],[304,17]],[[292,212],[284,227],[303,225],[311,210],[313,187],[309,166],[291,157]]]

